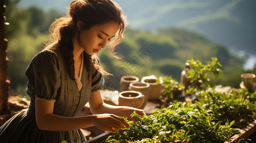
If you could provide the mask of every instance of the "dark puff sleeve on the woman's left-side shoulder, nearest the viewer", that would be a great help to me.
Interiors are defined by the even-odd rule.
[[[30,62],[26,76],[28,78],[28,94],[39,99],[55,102],[60,87],[58,58],[54,51],[41,51]]]

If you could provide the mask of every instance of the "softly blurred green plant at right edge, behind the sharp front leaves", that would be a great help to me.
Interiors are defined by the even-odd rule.
[[[194,109],[207,114],[214,114],[215,117],[225,122],[234,120],[235,128],[244,128],[256,119],[256,94],[246,92],[201,92],[198,102],[191,105]]]

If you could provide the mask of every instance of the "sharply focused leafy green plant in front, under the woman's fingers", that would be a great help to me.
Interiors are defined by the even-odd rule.
[[[231,128],[234,122],[221,125],[221,121],[212,122],[213,115],[205,116],[175,104],[144,118],[136,113],[132,116],[138,122],[130,124],[130,129],[125,129],[122,135],[110,136],[105,143],[221,143],[238,134]]]

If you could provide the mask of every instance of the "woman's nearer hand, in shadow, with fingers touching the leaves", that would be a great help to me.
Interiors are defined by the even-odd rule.
[[[114,114],[98,114],[96,115],[95,125],[104,131],[109,131],[111,133],[116,133],[121,129],[124,129],[124,126],[130,128],[130,125],[120,117]]]

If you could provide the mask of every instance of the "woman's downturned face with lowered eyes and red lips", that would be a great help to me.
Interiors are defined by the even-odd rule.
[[[88,30],[81,31],[79,41],[80,46],[89,55],[98,53],[101,48],[106,47],[111,38],[115,37],[118,29],[119,23],[111,21],[93,26]]]

